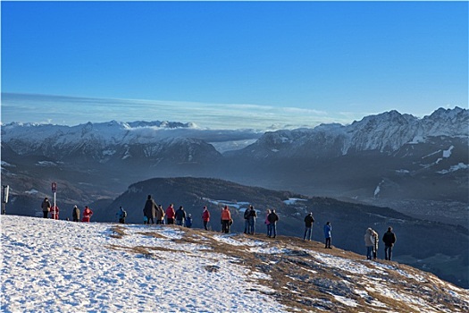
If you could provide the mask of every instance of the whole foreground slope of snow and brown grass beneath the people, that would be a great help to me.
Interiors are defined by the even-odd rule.
[[[4,312],[465,312],[469,292],[314,241],[1,216]],[[327,253],[326,253],[327,252]]]

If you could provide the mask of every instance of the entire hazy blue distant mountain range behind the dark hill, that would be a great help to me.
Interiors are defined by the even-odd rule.
[[[467,207],[468,125],[460,107],[422,119],[390,111],[345,126],[264,134],[169,122],[10,123],[2,125],[2,179],[20,193],[27,189],[15,180],[24,173],[119,194],[143,179],[198,176],[388,206],[409,199]]]

